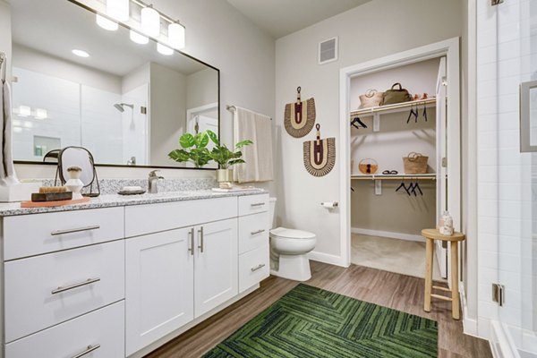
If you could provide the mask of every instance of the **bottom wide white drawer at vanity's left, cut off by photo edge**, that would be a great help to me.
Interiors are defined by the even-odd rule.
[[[5,345],[6,358],[124,357],[124,301]],[[77,355],[79,354],[79,355]]]

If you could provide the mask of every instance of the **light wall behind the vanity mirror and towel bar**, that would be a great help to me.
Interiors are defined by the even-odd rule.
[[[154,0],[154,6],[186,26],[184,52],[220,70],[221,132],[232,144],[232,115],[226,105],[251,108],[274,117],[275,42],[222,0]],[[0,10],[1,11],[1,10]],[[2,13],[3,16],[4,12]],[[2,22],[4,23],[4,22]],[[1,48],[0,48],[1,50]],[[54,166],[16,166],[21,178],[54,177]],[[99,177],[145,178],[147,168],[99,167]],[[166,177],[214,177],[212,171],[164,170]],[[260,185],[261,186],[261,185]],[[274,192],[274,184],[262,185]]]

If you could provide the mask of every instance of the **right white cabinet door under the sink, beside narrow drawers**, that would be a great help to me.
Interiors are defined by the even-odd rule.
[[[196,226],[196,318],[238,294],[237,219]]]

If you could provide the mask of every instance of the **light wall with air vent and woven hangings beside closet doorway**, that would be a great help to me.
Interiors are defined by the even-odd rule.
[[[315,133],[303,139],[290,137],[283,129],[285,104],[294,101],[296,87],[302,86],[303,98],[315,97],[321,136],[337,138],[339,69],[461,36],[462,4],[461,0],[374,0],[277,40],[276,121],[282,133],[277,158],[278,220],[318,234],[319,258],[340,256],[339,212],[320,207],[321,201],[339,200],[339,168],[336,165],[321,178],[305,171],[302,143],[314,139]],[[317,64],[318,43],[335,36],[339,60]]]

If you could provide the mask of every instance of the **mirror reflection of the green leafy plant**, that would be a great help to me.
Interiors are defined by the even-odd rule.
[[[181,149],[174,149],[169,152],[168,157],[178,163],[190,162],[197,168],[205,166],[211,160],[209,149],[209,136],[207,133],[184,133],[179,138]]]

